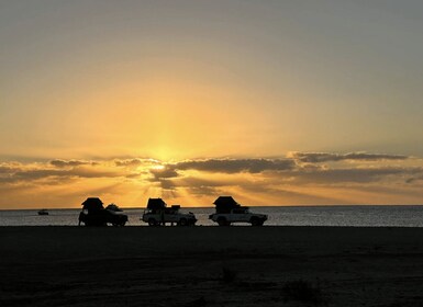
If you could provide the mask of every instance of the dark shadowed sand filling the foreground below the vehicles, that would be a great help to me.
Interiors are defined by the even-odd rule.
[[[423,306],[422,228],[0,227],[0,306]]]

